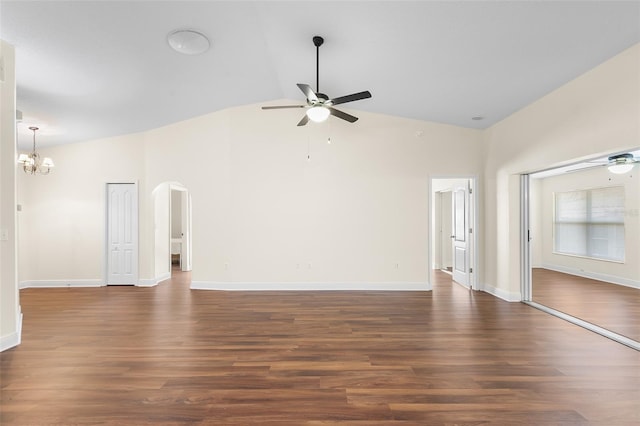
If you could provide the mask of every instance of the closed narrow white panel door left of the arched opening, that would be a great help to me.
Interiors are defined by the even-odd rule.
[[[138,279],[138,191],[133,183],[107,185],[107,285]]]

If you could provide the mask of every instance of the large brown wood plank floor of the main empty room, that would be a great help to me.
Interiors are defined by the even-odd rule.
[[[433,292],[26,289],[2,425],[635,425],[640,352]]]

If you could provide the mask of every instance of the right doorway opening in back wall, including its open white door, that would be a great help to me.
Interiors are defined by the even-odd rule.
[[[476,181],[470,177],[431,179],[431,259],[466,288],[477,288]]]

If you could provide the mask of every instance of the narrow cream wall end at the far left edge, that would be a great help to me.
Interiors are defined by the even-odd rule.
[[[20,343],[17,285],[16,79],[13,46],[0,40],[0,351]],[[5,238],[6,237],[6,238]]]

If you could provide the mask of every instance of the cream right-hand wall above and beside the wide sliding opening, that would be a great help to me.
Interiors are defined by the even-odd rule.
[[[532,103],[484,134],[485,289],[520,299],[518,174],[640,140],[640,45]]]

